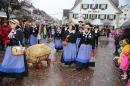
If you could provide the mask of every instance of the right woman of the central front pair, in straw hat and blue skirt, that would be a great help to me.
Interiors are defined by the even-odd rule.
[[[87,68],[90,56],[92,53],[92,32],[89,30],[89,26],[84,26],[84,32],[82,33],[81,40],[79,43],[79,52],[76,58],[76,69],[82,70],[83,68]]]

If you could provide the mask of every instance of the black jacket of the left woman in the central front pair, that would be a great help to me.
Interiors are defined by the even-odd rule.
[[[76,43],[76,39],[77,39],[76,33],[69,33],[69,31],[66,30],[65,33],[64,33],[64,36],[63,36],[63,41],[65,41],[67,35],[70,35],[69,38],[68,38],[69,39],[68,42],[70,42],[70,43]]]

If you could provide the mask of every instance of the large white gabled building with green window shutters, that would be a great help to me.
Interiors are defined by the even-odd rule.
[[[69,11],[69,21],[77,24],[79,20],[93,25],[118,27],[122,13],[118,0],[76,0]]]

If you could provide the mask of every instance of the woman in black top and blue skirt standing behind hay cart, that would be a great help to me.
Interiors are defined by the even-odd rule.
[[[32,26],[30,27],[30,46],[38,44],[37,35],[39,32],[39,28],[36,25],[35,21],[32,21]]]

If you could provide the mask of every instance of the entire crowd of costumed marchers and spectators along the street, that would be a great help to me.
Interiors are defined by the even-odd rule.
[[[95,63],[90,64],[90,60],[104,31],[104,29],[100,31],[99,26],[93,26],[90,23],[83,25],[82,21],[79,21],[78,25],[70,23],[62,27],[55,24],[36,23],[35,20],[31,22],[29,20],[21,22],[17,19],[3,21],[0,27],[0,40],[5,55],[0,65],[0,84],[4,77],[16,78],[16,80],[28,77],[25,45],[39,44],[42,38],[53,38],[56,52],[63,50],[61,62],[65,64],[65,67],[75,67],[77,71],[81,71],[95,65]],[[122,79],[129,79],[127,71],[130,58],[130,30],[107,29],[108,38],[110,33],[115,40],[114,59],[118,59]],[[20,46],[22,49],[19,48]],[[21,49],[23,52],[16,55],[13,53],[15,48],[16,51]]]

